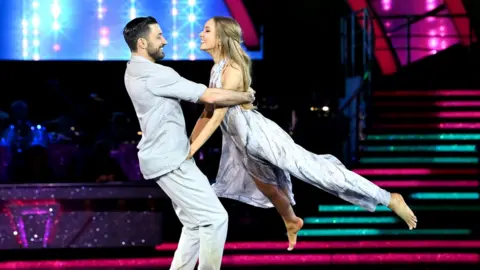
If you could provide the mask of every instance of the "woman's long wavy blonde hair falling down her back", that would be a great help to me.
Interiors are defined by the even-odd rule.
[[[252,83],[250,75],[252,60],[241,46],[242,28],[236,20],[229,17],[216,16],[212,20],[215,23],[221,52],[229,61],[239,66],[243,74],[243,90],[247,91]]]

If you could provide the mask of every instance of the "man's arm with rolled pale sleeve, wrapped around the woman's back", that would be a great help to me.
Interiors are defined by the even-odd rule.
[[[253,91],[237,92],[231,90],[207,88],[181,77],[175,70],[161,66],[151,72],[147,78],[148,89],[157,96],[177,98],[193,103],[234,106],[251,103],[255,97]]]

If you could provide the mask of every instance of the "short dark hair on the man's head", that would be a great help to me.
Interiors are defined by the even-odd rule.
[[[157,20],[153,17],[138,17],[131,20],[123,28],[123,38],[127,42],[130,51],[137,51],[137,41],[139,38],[147,38],[150,33],[151,24],[158,24]]]

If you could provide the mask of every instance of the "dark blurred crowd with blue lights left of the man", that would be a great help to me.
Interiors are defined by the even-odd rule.
[[[28,104],[14,101],[0,112],[2,182],[107,182],[128,179],[112,156],[134,149],[138,128],[122,112],[108,112],[95,94],[83,108],[57,119],[33,122]],[[135,119],[136,120],[136,119]],[[135,159],[135,154],[129,158]]]

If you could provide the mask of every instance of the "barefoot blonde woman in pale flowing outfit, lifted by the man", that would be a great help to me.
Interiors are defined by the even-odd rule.
[[[251,61],[240,45],[239,24],[231,18],[214,17],[207,21],[200,37],[200,48],[215,62],[210,87],[248,90]],[[219,126],[223,145],[215,192],[257,207],[275,207],[287,228],[288,250],[294,248],[303,226],[292,209],[290,174],[372,212],[378,204],[388,206],[409,229],[416,227],[417,218],[400,194],[379,188],[331,155],[306,151],[252,104],[229,108],[207,105],[192,132],[190,157]]]

